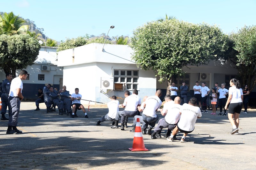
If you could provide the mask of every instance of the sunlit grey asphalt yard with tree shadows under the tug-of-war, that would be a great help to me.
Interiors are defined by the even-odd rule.
[[[132,118],[124,131],[111,129],[108,121],[95,126],[108,112],[105,105],[91,105],[87,119],[81,110],[78,118],[70,118],[58,111],[47,114],[43,104],[41,110],[35,108],[34,102],[21,102],[20,135],[6,135],[8,121],[0,121],[0,169],[251,170],[256,166],[255,109],[241,113],[239,135],[230,134],[227,116],[210,115],[209,111],[197,119],[195,130],[186,137],[188,142],[180,142],[181,133],[173,142],[143,135],[149,151],[131,152]],[[162,136],[165,133],[163,129]]]

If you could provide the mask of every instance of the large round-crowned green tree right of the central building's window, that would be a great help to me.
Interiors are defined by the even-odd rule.
[[[133,31],[131,41],[137,66],[154,70],[159,82],[167,80],[167,88],[174,76],[184,74],[182,67],[208,64],[223,57],[228,48],[227,35],[220,28],[179,20],[148,22]]]

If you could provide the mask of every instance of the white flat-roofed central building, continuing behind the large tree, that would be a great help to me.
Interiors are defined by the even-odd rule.
[[[63,85],[70,93],[77,87],[82,99],[106,103],[108,96],[116,95],[123,103],[125,90],[132,92],[138,89],[142,100],[144,96],[154,95],[157,89],[162,89],[161,98],[164,98],[167,83],[160,84],[152,70],[137,68],[131,60],[133,51],[129,46],[105,44],[103,51],[102,47],[103,44],[92,43],[58,53],[58,66],[63,67]],[[229,86],[229,80],[237,73],[232,65],[220,61],[199,67],[188,66],[183,70],[186,71],[185,76],[177,78],[175,83],[179,88],[183,81],[186,82],[190,90],[188,97],[193,96],[196,81],[206,82],[209,88],[216,82],[219,85],[226,82]]]

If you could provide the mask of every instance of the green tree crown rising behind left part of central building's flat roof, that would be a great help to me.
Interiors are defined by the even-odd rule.
[[[88,35],[86,36],[79,36],[77,38],[67,38],[66,41],[61,41],[59,48],[57,49],[57,52],[70,49],[70,48],[75,48],[79,46],[83,46],[87,43]]]

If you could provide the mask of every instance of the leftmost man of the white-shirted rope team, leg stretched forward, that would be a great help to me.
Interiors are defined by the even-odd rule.
[[[119,111],[119,101],[116,100],[116,96],[111,97],[111,101],[108,102],[108,114],[100,118],[96,126],[100,125],[100,122],[105,122],[106,120],[114,122],[116,120],[116,113]]]

